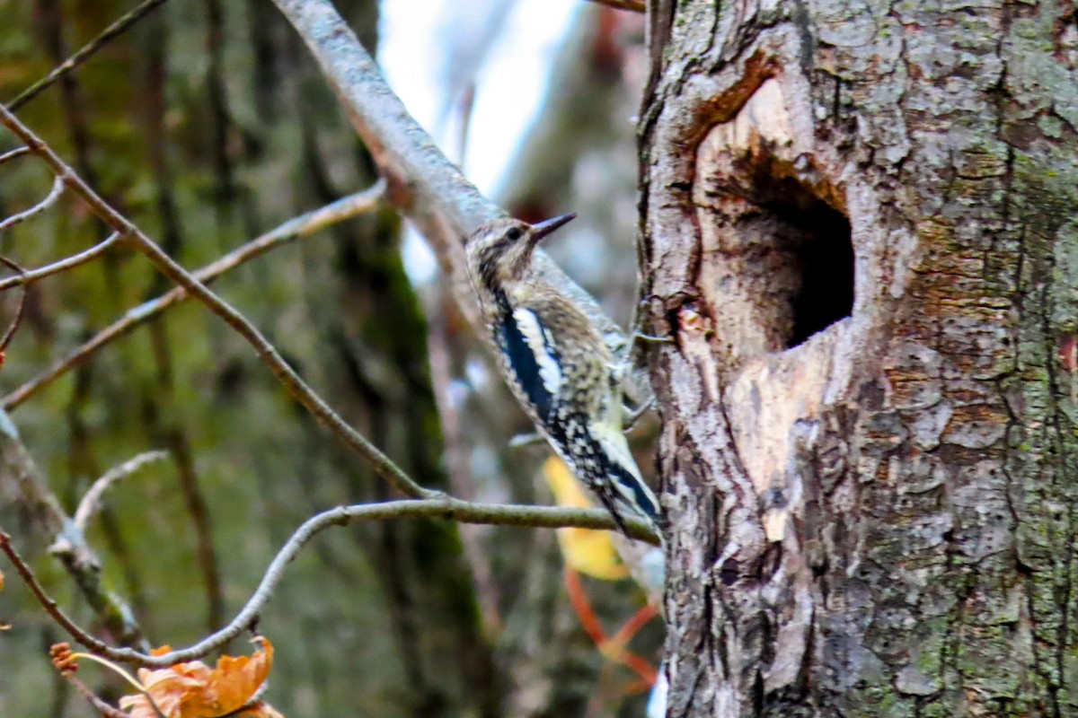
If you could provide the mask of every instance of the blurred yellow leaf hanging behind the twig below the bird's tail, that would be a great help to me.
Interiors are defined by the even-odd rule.
[[[543,476],[559,506],[591,508],[594,506],[583,487],[561,459],[551,456],[543,464]],[[565,562],[581,574],[616,581],[628,576],[628,568],[614,550],[609,531],[594,529],[558,529],[557,543]]]

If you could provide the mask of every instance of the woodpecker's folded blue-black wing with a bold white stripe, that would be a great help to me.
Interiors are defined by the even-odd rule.
[[[505,316],[501,340],[521,392],[548,423],[565,380],[554,336],[536,312],[517,307]]]

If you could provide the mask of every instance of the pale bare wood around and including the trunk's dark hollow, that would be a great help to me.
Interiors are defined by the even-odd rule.
[[[818,418],[854,292],[845,198],[815,168],[812,138],[796,131],[788,105],[769,79],[715,125],[696,152],[692,192],[699,285],[721,327],[711,349],[723,358],[734,440],[771,541],[799,512],[797,435]],[[815,310],[808,330],[798,326],[803,307]]]

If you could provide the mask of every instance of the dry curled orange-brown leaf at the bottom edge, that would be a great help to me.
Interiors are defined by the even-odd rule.
[[[165,718],[219,718],[248,703],[270,675],[273,644],[261,637],[255,643],[259,648],[253,656],[222,656],[216,668],[191,661],[157,671],[139,668],[138,679]],[[154,652],[168,650],[166,646]],[[130,718],[157,718],[149,699],[141,693],[120,699],[120,707],[129,708]],[[239,715],[282,718],[265,703],[255,703]]]

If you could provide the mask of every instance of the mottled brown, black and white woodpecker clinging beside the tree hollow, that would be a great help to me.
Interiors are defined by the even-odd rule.
[[[622,533],[623,509],[659,533],[660,509],[622,432],[618,365],[580,308],[531,266],[539,241],[576,214],[495,220],[466,243],[468,274],[513,394]]]

